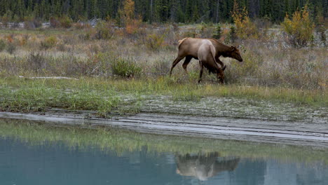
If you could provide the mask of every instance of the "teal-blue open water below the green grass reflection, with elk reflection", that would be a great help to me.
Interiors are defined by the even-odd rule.
[[[1,138],[1,137],[0,137]],[[0,139],[0,184],[328,184],[328,166],[242,157],[71,149]]]

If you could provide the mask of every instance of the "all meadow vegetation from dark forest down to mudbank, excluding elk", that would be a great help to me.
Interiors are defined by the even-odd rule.
[[[281,26],[252,20],[236,3],[231,6],[233,25],[150,25],[133,11],[137,1],[131,2],[123,4],[129,13],[121,14],[119,24],[107,18],[93,27],[67,17],[67,21],[50,18],[47,28],[3,25],[1,111],[57,107],[95,110],[106,116],[112,111],[142,111],[148,100],[163,97],[171,104],[233,97],[327,107],[327,20],[322,15],[311,17],[307,6],[287,15]],[[304,24],[306,29],[300,29]],[[244,62],[221,57],[228,66],[225,85],[210,74],[198,85],[195,60],[189,64],[189,74],[178,64],[169,77],[177,41],[187,36],[214,36],[239,45]],[[34,78],[44,76],[71,79]]]

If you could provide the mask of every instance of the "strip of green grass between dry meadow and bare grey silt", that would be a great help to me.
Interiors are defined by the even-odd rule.
[[[174,101],[201,101],[202,97],[237,97],[290,102],[298,106],[327,107],[324,90],[296,90],[259,86],[217,85],[175,81],[174,78],[111,79],[0,79],[2,111],[43,111],[46,107],[95,110],[100,114],[125,106],[129,95],[142,106],[144,96],[165,96]],[[139,97],[139,98],[138,98]],[[135,108],[134,108],[135,109]],[[125,109],[127,110],[127,109]]]

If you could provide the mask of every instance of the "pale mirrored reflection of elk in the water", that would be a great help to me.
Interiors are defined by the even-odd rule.
[[[198,153],[175,156],[177,174],[196,177],[202,181],[217,175],[219,172],[232,171],[238,165],[239,158],[218,158],[218,152]]]

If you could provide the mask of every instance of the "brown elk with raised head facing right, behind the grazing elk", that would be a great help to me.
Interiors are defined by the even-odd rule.
[[[240,56],[240,52],[238,48],[235,48],[234,46],[226,46],[223,43],[217,41],[217,39],[197,39],[197,38],[187,37],[179,41],[179,53],[175,61],[172,63],[170,76],[172,75],[173,68],[182,59],[184,59],[184,57],[186,57],[186,59],[184,60],[184,64],[182,64],[184,71],[186,71],[186,67],[188,66],[192,58],[198,60],[198,50],[203,40],[208,40],[213,44],[215,48],[215,55],[214,55],[215,61],[221,65],[221,69],[223,71],[224,69],[226,69],[226,66],[224,65],[223,62],[221,62],[221,60],[219,60],[220,56],[231,57],[234,58],[235,60],[242,62],[242,57]]]

